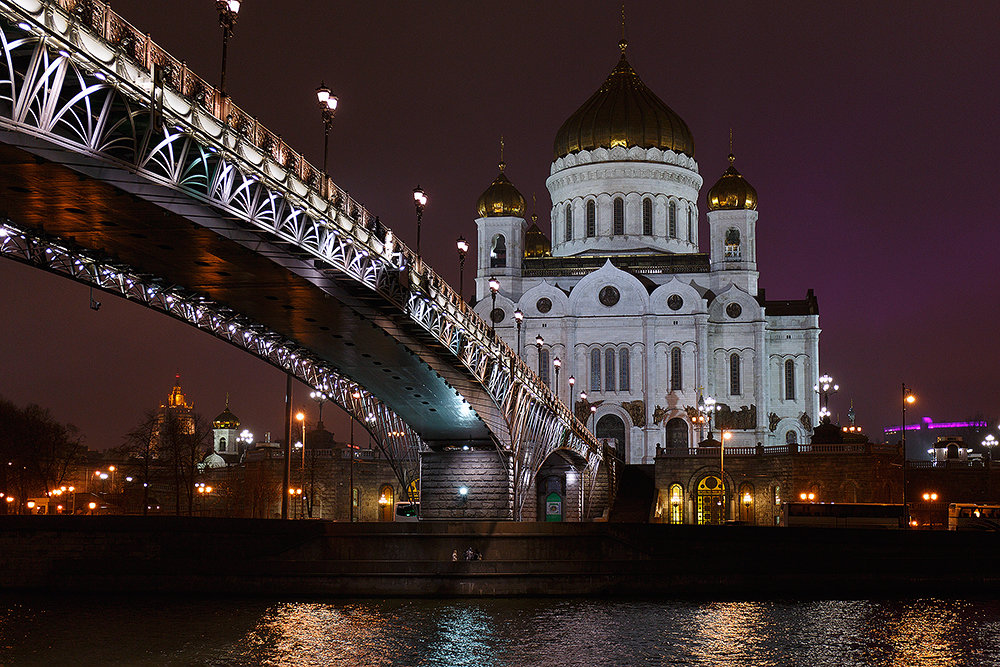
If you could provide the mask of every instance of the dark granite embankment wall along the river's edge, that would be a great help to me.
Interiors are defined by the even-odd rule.
[[[958,597],[1000,593],[998,557],[973,532],[0,517],[0,588],[50,591]]]

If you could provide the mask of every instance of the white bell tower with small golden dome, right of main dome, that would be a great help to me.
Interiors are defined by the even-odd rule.
[[[729,154],[729,168],[708,191],[712,272],[718,289],[734,283],[757,293],[757,191],[743,178]]]

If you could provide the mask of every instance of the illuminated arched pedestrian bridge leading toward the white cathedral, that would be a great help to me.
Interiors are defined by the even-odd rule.
[[[0,0],[0,255],[142,303],[326,392],[403,488],[496,451],[520,517],[556,452],[581,514],[614,461],[364,206],[97,0]],[[487,512],[488,513],[488,512]]]

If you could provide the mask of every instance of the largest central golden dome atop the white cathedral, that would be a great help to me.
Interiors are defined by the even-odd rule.
[[[625,59],[600,89],[556,133],[555,159],[594,148],[661,148],[694,157],[687,124],[653,91]]]

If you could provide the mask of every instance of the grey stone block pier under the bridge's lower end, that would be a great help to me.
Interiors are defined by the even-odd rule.
[[[421,520],[511,520],[512,469],[510,455],[495,449],[422,452]]]

